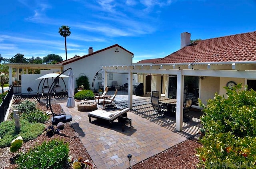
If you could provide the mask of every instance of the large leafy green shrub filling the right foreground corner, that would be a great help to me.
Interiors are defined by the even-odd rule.
[[[201,117],[205,136],[197,149],[199,167],[248,168],[256,159],[256,92],[239,84],[226,88],[227,98],[215,94]]]

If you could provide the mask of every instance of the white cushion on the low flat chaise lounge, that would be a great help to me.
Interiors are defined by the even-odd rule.
[[[114,120],[118,116],[120,116],[128,111],[129,111],[129,108],[125,108],[123,110],[116,110],[116,111],[94,110],[94,111],[88,113],[88,115],[94,116],[96,118],[102,118],[105,120]]]

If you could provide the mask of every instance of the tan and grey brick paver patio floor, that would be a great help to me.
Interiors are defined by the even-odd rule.
[[[120,94],[125,93],[119,92],[116,105],[126,108],[128,96]],[[76,105],[80,103],[76,102]],[[71,124],[98,169],[127,169],[128,154],[132,155],[131,165],[134,165],[187,140],[202,128],[201,112],[190,111],[187,115],[192,115],[192,120],[183,122],[182,132],[175,131],[175,117],[159,119],[153,116],[150,97],[133,96],[133,109],[127,113],[132,119],[132,127],[127,125],[124,132],[119,124],[109,128],[108,122],[94,118],[89,123],[88,112],[79,112],[77,106],[70,109],[66,102],[60,105],[66,114],[72,115]]]

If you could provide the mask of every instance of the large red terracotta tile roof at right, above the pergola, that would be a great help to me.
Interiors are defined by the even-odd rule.
[[[196,41],[155,63],[256,61],[256,31]]]

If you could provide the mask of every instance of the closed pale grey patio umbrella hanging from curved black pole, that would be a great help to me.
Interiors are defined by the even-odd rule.
[[[74,74],[73,71],[70,70],[68,73],[69,79],[68,79],[68,102],[67,102],[67,107],[68,108],[74,108],[75,107],[75,84],[74,84]]]

